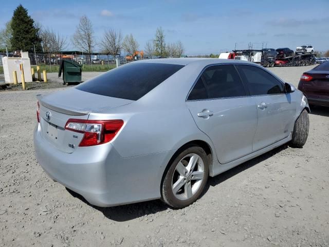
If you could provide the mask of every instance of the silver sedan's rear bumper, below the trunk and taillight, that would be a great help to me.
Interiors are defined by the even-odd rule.
[[[39,126],[34,129],[39,164],[90,204],[107,207],[160,198],[162,174],[174,151],[123,158],[107,143],[64,153],[41,136]]]

